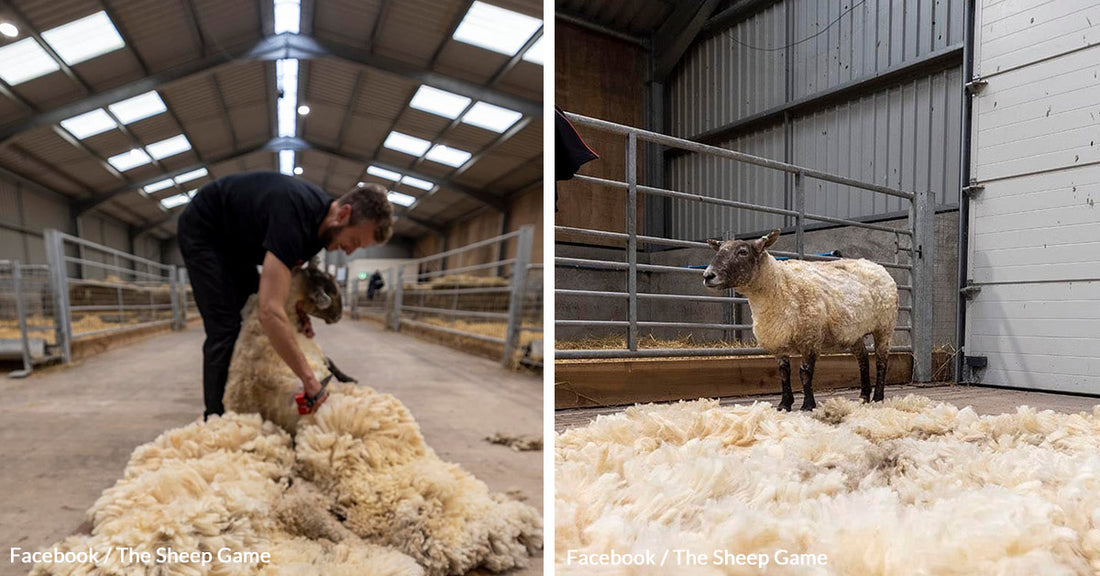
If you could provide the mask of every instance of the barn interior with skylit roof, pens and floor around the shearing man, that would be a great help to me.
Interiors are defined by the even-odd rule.
[[[540,2],[4,0],[0,22],[0,352],[13,375],[0,387],[14,407],[0,484],[15,490],[0,540],[38,549],[87,531],[85,510],[134,446],[201,414],[204,331],[177,221],[204,185],[251,170],[332,197],[388,190],[389,243],[320,255],[348,310],[318,342],[405,402],[441,456],[541,508],[539,453],[485,440],[541,431],[540,358],[525,356],[541,341]],[[503,303],[474,311],[526,314],[524,330],[474,351],[484,358],[461,351],[481,341],[454,329],[458,298],[407,310],[399,331],[353,319],[360,276],[400,266],[409,291],[503,287]],[[505,341],[516,362],[502,367]]]

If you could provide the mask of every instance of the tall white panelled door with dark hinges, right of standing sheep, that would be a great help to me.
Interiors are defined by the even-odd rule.
[[[1100,394],[1100,5],[974,22],[963,377]]]

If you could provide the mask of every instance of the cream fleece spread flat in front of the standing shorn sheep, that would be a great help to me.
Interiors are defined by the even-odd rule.
[[[760,553],[751,565],[600,574],[1086,575],[1100,572],[1100,408],[979,417],[927,398],[813,413],[638,406],[556,443],[558,574],[580,553]],[[779,550],[825,565],[778,565]],[[575,557],[575,556],[574,556]]]

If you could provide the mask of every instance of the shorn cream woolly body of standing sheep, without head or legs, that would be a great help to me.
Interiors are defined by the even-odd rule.
[[[765,255],[752,284],[738,288],[752,309],[752,334],[780,355],[849,352],[875,336],[890,347],[898,285],[866,259],[778,262]]]

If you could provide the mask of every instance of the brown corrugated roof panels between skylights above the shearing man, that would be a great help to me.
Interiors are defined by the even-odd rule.
[[[262,33],[260,7],[267,0],[103,1],[130,43],[125,49],[75,67],[94,92],[139,79],[142,74],[139,59],[154,74],[194,63],[204,57],[200,38],[206,43],[207,56],[257,40]],[[100,2],[16,0],[15,3],[41,30],[102,10],[105,5]],[[536,16],[541,12],[538,0],[501,0],[493,3]],[[307,19],[302,22],[304,33],[312,29],[314,34],[322,40],[372,49],[375,54],[414,65],[431,63],[439,74],[471,84],[488,82],[508,62],[506,56],[448,37],[464,15],[469,0],[403,0],[389,2],[389,8],[381,13],[380,0],[326,0],[312,4],[316,12],[304,11]],[[194,20],[188,5],[194,5]],[[377,18],[385,20],[377,26],[380,34],[372,43],[371,34]],[[0,44],[3,43],[0,40]],[[437,53],[439,57],[432,62]],[[409,99],[420,86],[416,79],[336,57],[302,60],[300,71],[299,103],[310,106],[311,111],[309,115],[298,118],[299,137],[349,156],[341,158],[317,151],[298,152],[298,164],[306,170],[304,176],[318,181],[331,193],[338,195],[353,187],[375,157],[399,167],[415,167],[416,171],[440,180],[457,171],[451,166],[430,160],[417,162],[411,156],[383,148],[381,143],[391,130],[470,153],[482,151],[498,137],[490,131],[455,124],[449,119],[410,109]],[[541,74],[541,66],[520,62],[501,75],[494,89],[540,100]],[[208,163],[222,159],[208,166],[212,177],[241,170],[277,169],[277,155],[273,151],[261,149],[237,156],[238,151],[261,145],[275,135],[273,76],[273,62],[239,60],[160,85],[156,89],[168,112],[130,124],[128,129],[136,140],[121,131],[110,130],[80,144],[106,158],[135,145],[147,145],[183,133],[193,149],[163,158],[160,164],[165,169],[201,165],[200,158]],[[42,110],[55,109],[86,97],[84,90],[62,73],[21,84],[14,90]],[[30,112],[19,104],[0,98],[0,129],[22,122],[29,115]],[[453,129],[450,128],[452,124]],[[526,135],[528,131],[534,135]],[[513,139],[510,144],[479,157],[470,171],[459,178],[460,181],[470,185],[508,178],[508,173],[517,170],[517,166],[541,155],[541,136],[535,132],[538,130],[528,129],[525,134]],[[25,153],[20,153],[20,149]],[[32,155],[42,158],[42,162],[35,160]],[[81,197],[87,195],[88,189],[107,192],[123,187],[125,181],[136,185],[163,174],[160,167],[151,164],[127,170],[123,173],[125,180],[119,179],[105,169],[100,159],[62,140],[50,128],[20,134],[8,144],[0,144],[0,166],[62,193]],[[199,186],[208,180],[204,178],[186,186]],[[416,197],[426,195],[424,190],[388,184]],[[499,188],[494,193],[497,191]],[[103,211],[124,221],[143,224],[135,219],[148,217],[156,220],[154,217],[163,217],[157,201],[175,192],[175,188],[151,197],[127,192],[105,204],[107,208]],[[481,203],[476,200],[444,188],[418,204],[414,215],[444,223],[477,206]],[[124,212],[128,209],[129,212]],[[425,232],[416,225],[409,229],[410,233]],[[173,226],[166,224],[162,230],[172,231]]]

